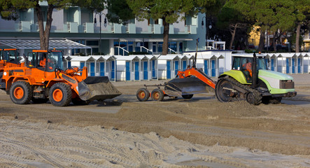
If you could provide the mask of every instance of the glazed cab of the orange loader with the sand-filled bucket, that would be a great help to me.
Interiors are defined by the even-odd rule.
[[[63,53],[60,50],[32,50],[28,53],[27,66],[43,71],[55,71],[63,69]]]

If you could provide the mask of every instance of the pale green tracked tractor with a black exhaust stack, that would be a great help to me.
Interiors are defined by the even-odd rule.
[[[218,77],[216,97],[220,102],[246,100],[251,104],[278,104],[282,97],[296,96],[293,77],[267,69],[262,56],[237,56],[232,70]],[[252,66],[253,65],[253,66]]]

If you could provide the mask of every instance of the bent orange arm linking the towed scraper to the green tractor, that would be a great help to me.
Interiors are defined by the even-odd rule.
[[[191,69],[186,69],[185,71],[178,71],[177,74],[178,78],[188,78],[190,76],[196,76],[196,78],[199,78],[202,80],[206,85],[209,85],[213,89],[216,89],[216,83],[206,76],[206,73],[203,71],[196,69],[196,68],[191,68]]]

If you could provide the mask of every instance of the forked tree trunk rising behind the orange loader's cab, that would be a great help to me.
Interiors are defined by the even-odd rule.
[[[44,30],[44,20],[41,10],[41,6],[36,4],[36,16],[38,17],[38,30],[40,35],[40,48],[41,50],[48,50],[49,38],[50,38],[50,27],[52,25],[52,10],[54,9],[53,5],[48,5],[48,13],[46,18],[46,25]]]

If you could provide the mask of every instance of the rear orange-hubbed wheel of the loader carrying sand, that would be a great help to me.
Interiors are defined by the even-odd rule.
[[[15,104],[29,104],[31,97],[31,86],[26,81],[17,81],[10,87],[10,99]]]

